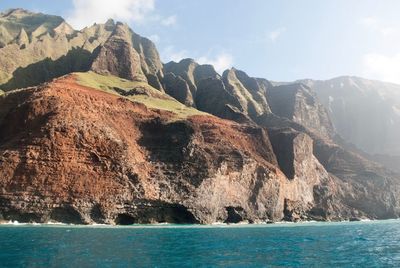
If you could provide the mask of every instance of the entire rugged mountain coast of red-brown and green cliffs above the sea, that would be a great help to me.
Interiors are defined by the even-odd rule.
[[[397,150],[395,85],[221,76],[162,64],[126,24],[76,31],[21,9],[1,13],[0,38],[0,220],[400,216],[400,175],[362,151]]]

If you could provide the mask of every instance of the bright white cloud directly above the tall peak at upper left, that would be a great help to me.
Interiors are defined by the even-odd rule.
[[[73,0],[67,21],[76,29],[113,18],[123,22],[143,22],[154,10],[155,0]]]

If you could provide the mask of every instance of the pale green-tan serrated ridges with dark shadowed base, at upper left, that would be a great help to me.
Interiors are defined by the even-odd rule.
[[[15,9],[0,16],[0,88],[38,85],[71,71],[86,71],[90,54],[109,37],[102,25],[74,31],[61,17]],[[4,36],[4,35],[3,35]],[[90,41],[89,41],[90,39]]]

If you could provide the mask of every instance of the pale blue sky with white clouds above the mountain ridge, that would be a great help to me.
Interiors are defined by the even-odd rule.
[[[193,58],[274,81],[356,75],[400,83],[397,0],[0,0],[81,29],[107,18],[156,43],[163,62]]]

